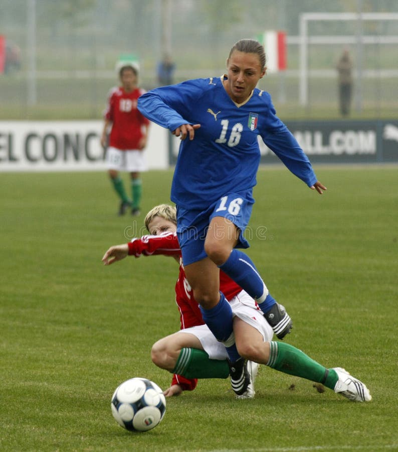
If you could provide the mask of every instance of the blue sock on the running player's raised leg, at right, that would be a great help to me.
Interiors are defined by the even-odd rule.
[[[226,262],[220,265],[220,269],[253,297],[264,313],[276,303],[269,294],[256,266],[242,251],[234,248]]]

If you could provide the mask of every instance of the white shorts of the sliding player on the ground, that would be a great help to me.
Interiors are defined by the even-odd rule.
[[[256,328],[263,336],[264,342],[272,341],[274,331],[251,296],[242,290],[230,301],[230,305],[234,317],[237,316]],[[192,326],[191,328],[180,329],[178,332],[196,336],[210,359],[226,360],[228,358],[224,344],[217,341],[207,325]]]

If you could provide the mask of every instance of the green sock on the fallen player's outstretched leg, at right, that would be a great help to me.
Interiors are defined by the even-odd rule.
[[[285,374],[322,383],[329,389],[334,389],[338,380],[333,369],[326,369],[301,350],[282,342],[270,343],[270,358],[267,366]]]

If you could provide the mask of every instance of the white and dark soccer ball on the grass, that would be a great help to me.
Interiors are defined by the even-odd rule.
[[[166,412],[163,391],[146,378],[131,378],[113,393],[113,417],[130,431],[147,431],[156,427]]]

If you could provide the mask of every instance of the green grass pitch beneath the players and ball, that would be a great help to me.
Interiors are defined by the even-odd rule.
[[[284,168],[259,171],[248,254],[293,318],[286,341],[345,367],[372,402],[261,366],[254,400],[235,400],[228,379],[203,380],[167,399],[154,430],[120,428],[118,384],[169,385],[150,348],[179,327],[177,266],[160,256],[103,266],[144,217],[116,216],[105,173],[2,173],[0,450],[398,450],[398,167],[315,170],[323,196]],[[143,212],[168,202],[171,176],[143,175]]]

